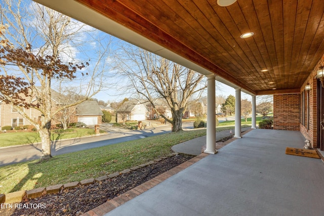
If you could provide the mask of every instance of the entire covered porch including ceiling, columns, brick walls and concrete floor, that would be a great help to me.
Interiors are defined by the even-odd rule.
[[[324,212],[322,161],[285,154],[305,139],[324,151],[322,0],[34,1],[208,77],[210,155],[107,215]],[[215,80],[235,89],[236,138],[241,92],[252,97],[253,128],[256,97],[274,96],[274,130],[214,155]]]

